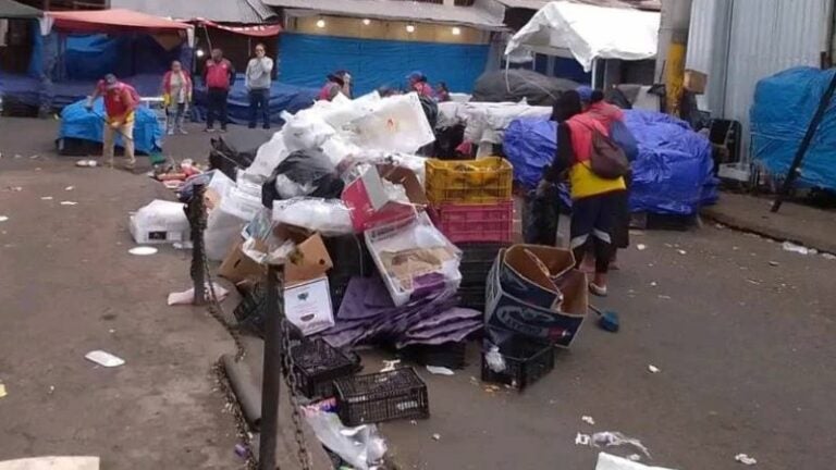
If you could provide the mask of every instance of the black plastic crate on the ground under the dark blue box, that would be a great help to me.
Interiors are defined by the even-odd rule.
[[[505,360],[502,372],[494,372],[488,367],[485,354],[489,350],[482,349],[483,382],[509,385],[521,392],[554,369],[554,345],[550,341],[511,336],[500,345],[500,354]]]

